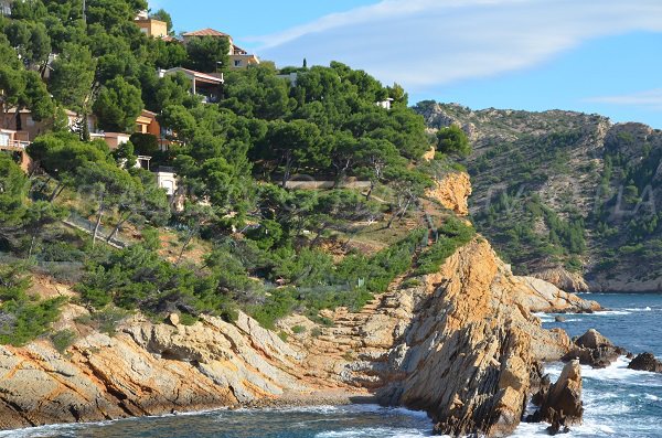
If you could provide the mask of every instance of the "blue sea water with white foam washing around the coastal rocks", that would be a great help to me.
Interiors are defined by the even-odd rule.
[[[588,295],[609,309],[594,314],[540,314],[546,328],[576,336],[595,328],[633,353],[662,357],[661,295]],[[662,374],[630,371],[621,357],[606,370],[583,367],[585,420],[564,437],[662,437]],[[546,371],[554,380],[562,364]],[[405,438],[431,436],[425,413],[375,405],[213,410],[0,432],[0,438]],[[546,437],[546,425],[523,424],[514,437]]]

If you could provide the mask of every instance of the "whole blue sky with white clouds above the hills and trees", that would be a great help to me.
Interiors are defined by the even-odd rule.
[[[278,65],[364,68],[410,102],[572,109],[662,129],[661,0],[152,0]],[[204,12],[202,12],[204,11]]]

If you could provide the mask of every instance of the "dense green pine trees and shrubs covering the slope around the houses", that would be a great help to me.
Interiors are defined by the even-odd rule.
[[[243,309],[273,327],[295,310],[319,318],[321,309],[359,309],[473,236],[446,224],[446,213],[431,233],[439,224],[420,202],[435,178],[453,171],[448,157],[468,152],[467,139],[452,129],[430,138],[397,84],[335,62],[229,72],[226,39],[148,38],[134,23],[145,7],[90,0],[84,17],[78,0],[31,0],[0,18],[1,109],[45,121],[28,148],[35,162],[28,175],[0,156],[3,267],[75,286],[72,300],[99,320],[113,309],[232,320]],[[158,74],[177,66],[224,73],[218,102],[190,94],[182,74]],[[290,72],[295,84],[280,76]],[[387,98],[389,109],[377,105]],[[71,127],[64,109],[81,121]],[[142,109],[158,114],[173,141],[168,150],[143,133],[115,150],[89,141],[88,115],[124,131]],[[423,165],[433,142],[446,145],[444,153]],[[174,169],[174,196],[135,165],[142,154],[152,168]],[[333,188],[290,189],[301,175]],[[343,189],[349,179],[366,185]],[[41,335],[62,303],[23,291],[0,301],[6,318],[20,321],[20,309],[39,317],[18,343]]]

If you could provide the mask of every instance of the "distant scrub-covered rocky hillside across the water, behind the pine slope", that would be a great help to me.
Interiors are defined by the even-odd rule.
[[[471,215],[515,271],[570,290],[662,290],[660,130],[560,110],[416,110],[470,137]]]

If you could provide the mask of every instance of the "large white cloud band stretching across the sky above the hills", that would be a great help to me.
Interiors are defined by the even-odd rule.
[[[662,1],[384,0],[254,41],[279,65],[335,60],[416,90],[532,67],[633,31],[662,32]]]

